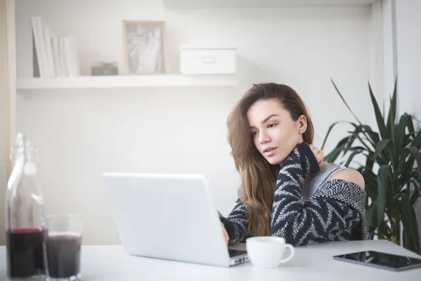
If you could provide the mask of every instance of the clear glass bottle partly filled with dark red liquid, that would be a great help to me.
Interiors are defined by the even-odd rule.
[[[45,277],[44,198],[35,181],[37,157],[30,138],[18,133],[11,150],[13,169],[6,190],[8,280]]]

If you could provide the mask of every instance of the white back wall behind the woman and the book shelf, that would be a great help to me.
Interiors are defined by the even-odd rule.
[[[245,8],[164,11],[154,0],[18,0],[18,76],[32,75],[29,18],[79,39],[83,74],[93,61],[118,60],[121,20],[166,20],[168,60],[178,45],[236,46],[236,89],[44,91],[18,96],[18,130],[39,147],[39,183],[48,213],[80,212],[86,244],[118,243],[102,191],[102,171],[196,172],[210,177],[215,203],[228,214],[239,177],[229,156],[226,119],[251,84],[292,86],[307,103],[321,145],[328,126],[352,120],[330,84],[338,84],[361,120],[373,124],[368,97],[370,8]],[[345,133],[337,129],[326,150]],[[187,195],[186,195],[187,196]]]

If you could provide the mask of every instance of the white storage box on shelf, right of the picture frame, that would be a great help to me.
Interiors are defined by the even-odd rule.
[[[235,74],[235,48],[180,48],[181,74]]]

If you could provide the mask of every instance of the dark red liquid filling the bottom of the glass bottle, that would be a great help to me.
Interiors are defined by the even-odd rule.
[[[43,235],[37,228],[20,228],[6,232],[8,277],[45,274]]]

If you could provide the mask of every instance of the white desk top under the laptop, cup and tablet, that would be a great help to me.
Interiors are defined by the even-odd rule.
[[[239,244],[236,248],[243,248]],[[353,251],[375,250],[419,257],[389,241],[330,242],[297,247],[290,263],[275,269],[257,269],[243,263],[232,268],[203,266],[193,263],[147,259],[128,256],[120,245],[83,246],[81,273],[86,281],[135,280],[259,280],[259,281],[363,281],[363,280],[421,280],[421,268],[393,272],[335,261],[332,256]],[[6,279],[6,247],[0,247],[0,280]]]

